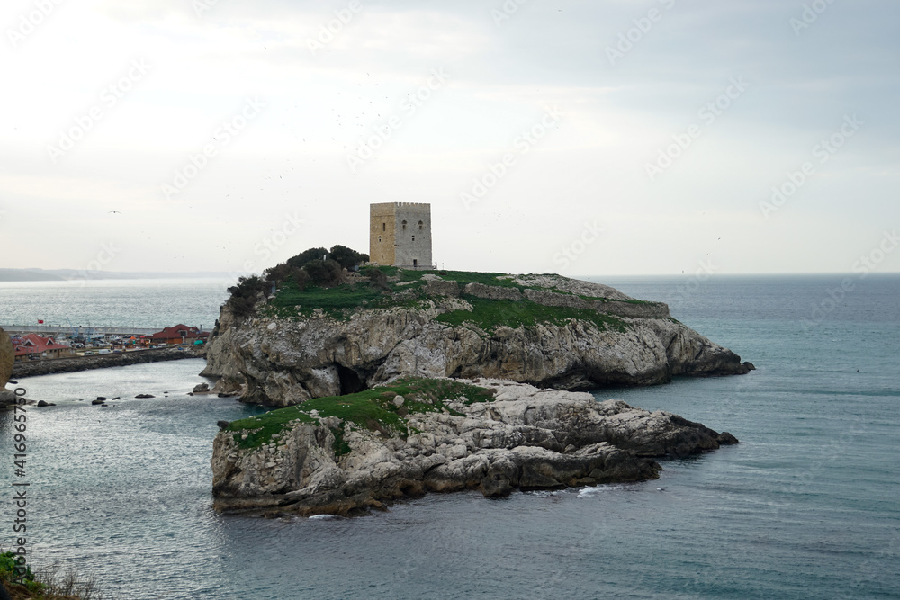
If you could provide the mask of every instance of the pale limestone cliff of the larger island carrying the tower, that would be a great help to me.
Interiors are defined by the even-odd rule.
[[[739,356],[669,318],[665,304],[637,302],[607,286],[553,275],[520,276],[513,281],[521,288],[426,277],[427,300],[415,308],[242,320],[226,306],[202,374],[222,378],[218,390],[239,384],[243,401],[284,407],[401,375],[489,377],[576,390],[747,372]],[[562,307],[610,320],[560,318],[488,330],[436,320],[473,310],[477,299]]]

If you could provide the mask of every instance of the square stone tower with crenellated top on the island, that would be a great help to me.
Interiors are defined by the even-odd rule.
[[[369,260],[404,269],[431,269],[431,204],[369,205]]]

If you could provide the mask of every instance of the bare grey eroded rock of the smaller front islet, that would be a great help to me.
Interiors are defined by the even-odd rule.
[[[255,449],[220,432],[212,455],[215,507],[355,515],[427,492],[480,489],[500,497],[514,489],[639,481],[658,477],[653,458],[737,442],[680,416],[597,402],[588,393],[477,383],[496,390],[495,400],[452,404],[463,416],[410,416],[410,430],[419,433],[405,440],[334,416],[297,422]],[[350,452],[336,454],[336,431]]]

